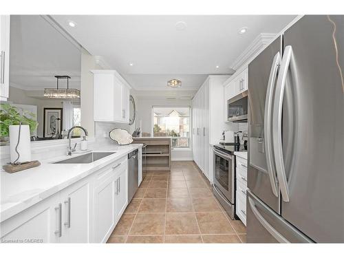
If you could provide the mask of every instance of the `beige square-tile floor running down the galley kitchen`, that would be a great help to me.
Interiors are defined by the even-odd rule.
[[[231,220],[194,162],[144,174],[108,243],[244,243],[246,228]]]

